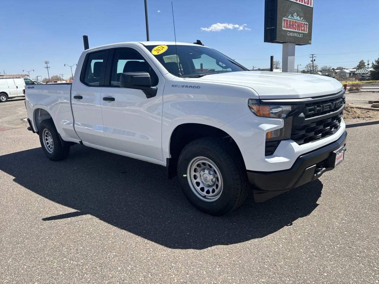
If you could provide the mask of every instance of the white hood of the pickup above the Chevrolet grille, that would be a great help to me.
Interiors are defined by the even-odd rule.
[[[341,83],[330,77],[285,72],[240,71],[185,80],[246,86],[254,89],[261,99],[317,97],[342,89]]]

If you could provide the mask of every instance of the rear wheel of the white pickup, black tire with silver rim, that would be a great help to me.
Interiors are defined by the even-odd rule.
[[[58,131],[56,131],[55,125],[51,120],[43,120],[39,125],[38,132],[39,142],[47,158],[52,161],[60,161],[67,158],[70,153],[70,146],[67,142],[60,139]],[[50,135],[48,133],[50,133]],[[49,138],[50,140],[52,139],[53,145],[48,141]],[[47,145],[45,145],[44,140],[47,141]]]

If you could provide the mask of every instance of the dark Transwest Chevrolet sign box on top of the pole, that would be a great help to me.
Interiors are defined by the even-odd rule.
[[[265,42],[312,43],[313,0],[265,0]]]

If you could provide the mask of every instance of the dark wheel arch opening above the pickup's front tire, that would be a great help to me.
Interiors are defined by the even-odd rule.
[[[230,143],[231,147],[234,147],[236,149],[244,165],[243,156],[238,145],[234,139],[224,130],[202,123],[182,123],[174,128],[169,139],[169,158],[166,159],[169,178],[172,178],[177,174],[177,162],[179,154],[183,148],[188,143],[204,137],[219,137],[220,139],[226,139],[227,142]]]

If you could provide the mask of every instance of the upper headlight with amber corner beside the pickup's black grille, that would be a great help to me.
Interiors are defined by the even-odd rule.
[[[261,117],[286,118],[295,114],[298,110],[296,105],[262,105],[259,100],[249,98],[249,108]]]

